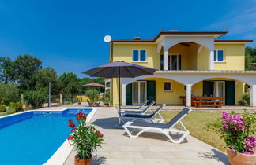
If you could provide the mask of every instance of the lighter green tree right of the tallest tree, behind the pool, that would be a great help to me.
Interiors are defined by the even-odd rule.
[[[35,75],[32,75],[30,81],[34,89],[48,89],[49,82],[51,82],[51,94],[59,94],[58,76],[54,68],[47,67],[43,69],[37,69]]]

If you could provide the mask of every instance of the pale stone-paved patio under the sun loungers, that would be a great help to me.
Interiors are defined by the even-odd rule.
[[[104,144],[93,154],[93,164],[228,164],[224,152],[188,136],[182,144],[173,144],[164,135],[144,133],[129,138],[122,129],[115,129],[116,108],[97,108],[92,124],[104,134]],[[73,151],[66,165],[74,164]]]

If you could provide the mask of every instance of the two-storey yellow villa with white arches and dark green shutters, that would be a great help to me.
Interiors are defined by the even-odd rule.
[[[122,78],[122,105],[191,106],[191,96],[225,97],[224,105],[239,105],[250,86],[250,106],[256,106],[256,72],[245,71],[245,45],[252,40],[217,39],[228,31],[160,31],[155,38],[112,40],[109,61],[156,68],[154,75]],[[118,81],[108,79],[113,105]],[[184,99],[182,99],[184,98]]]

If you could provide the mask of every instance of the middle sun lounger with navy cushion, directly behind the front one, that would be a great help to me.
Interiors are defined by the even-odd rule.
[[[124,114],[121,116],[122,123],[126,123],[128,120],[132,122],[135,120],[144,120],[145,122],[153,122],[153,119],[156,119],[157,114],[164,108],[165,104],[160,105],[152,114],[150,115],[138,115],[138,114]],[[156,119],[157,122],[164,122],[164,119]]]

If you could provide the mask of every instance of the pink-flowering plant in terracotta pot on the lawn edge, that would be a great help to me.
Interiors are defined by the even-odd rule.
[[[207,127],[220,133],[220,138],[224,139],[224,147],[228,148],[228,161],[232,165],[249,165],[256,163],[256,138],[252,136],[255,125],[256,112],[243,111],[242,114],[223,112],[222,118]]]

